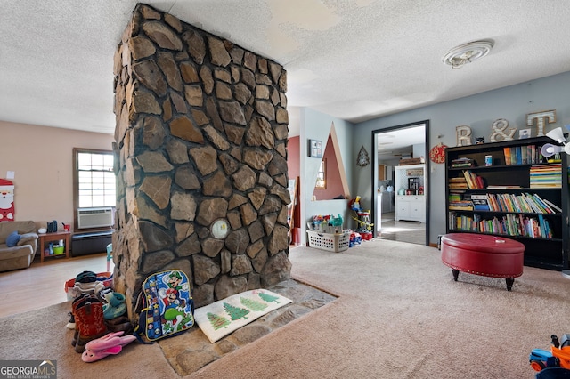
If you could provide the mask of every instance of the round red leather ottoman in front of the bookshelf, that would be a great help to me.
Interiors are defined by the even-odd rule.
[[[473,233],[451,233],[441,238],[442,262],[453,270],[484,277],[506,278],[507,290],[523,275],[525,245],[513,239]]]

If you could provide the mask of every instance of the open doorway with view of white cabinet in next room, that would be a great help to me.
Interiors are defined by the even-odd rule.
[[[374,236],[429,246],[429,121],[374,130],[372,144]]]

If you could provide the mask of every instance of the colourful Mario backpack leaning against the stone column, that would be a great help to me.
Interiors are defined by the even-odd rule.
[[[142,309],[141,309],[142,308]],[[134,336],[141,343],[178,335],[194,325],[190,283],[182,270],[167,270],[142,282]]]

